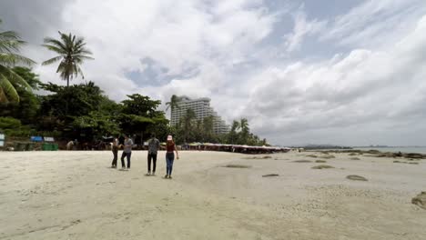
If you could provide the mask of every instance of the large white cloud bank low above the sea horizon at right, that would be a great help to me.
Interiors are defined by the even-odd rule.
[[[425,116],[426,103],[424,32],[426,15],[386,51],[357,49],[338,61],[299,62],[260,72],[254,79],[262,79],[261,84],[254,88],[246,109],[253,127],[285,143],[308,143],[316,129],[333,133],[353,127],[356,135],[369,135],[371,126],[377,126],[401,135],[407,130],[401,129],[401,122],[421,128],[419,117]],[[354,135],[348,132],[335,139],[365,144],[365,139]],[[375,135],[371,139],[397,145],[426,140],[421,135],[392,140]]]

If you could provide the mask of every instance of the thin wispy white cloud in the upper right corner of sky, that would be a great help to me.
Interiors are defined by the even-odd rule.
[[[423,0],[367,0],[330,21],[320,38],[352,47],[388,47],[425,14]]]

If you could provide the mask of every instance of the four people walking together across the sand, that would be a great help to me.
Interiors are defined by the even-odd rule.
[[[123,154],[121,155],[121,167],[123,169],[130,169],[130,159],[132,156],[132,147],[133,141],[128,135],[124,135],[125,140],[123,146]],[[156,138],[155,135],[151,135],[151,138],[148,140],[148,151],[147,151],[147,175],[156,175],[157,168],[157,153],[160,149],[160,142]],[[111,167],[117,168],[117,160],[118,160],[118,149],[121,145],[119,145],[118,138],[114,138],[112,143],[112,152],[114,155],[113,161],[111,163]],[[175,160],[175,152],[176,157],[179,159],[179,155],[177,153],[177,148],[175,142],[173,141],[173,137],[171,135],[167,136],[166,143],[166,175],[165,178],[172,178],[172,170],[173,170],[173,162]],[[125,164],[125,157],[127,158],[127,167]],[[152,168],[151,168],[152,163]],[[152,169],[152,171],[151,171]]]

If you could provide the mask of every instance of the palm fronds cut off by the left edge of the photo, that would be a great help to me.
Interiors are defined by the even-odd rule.
[[[1,19],[0,24],[2,24]],[[15,65],[35,64],[33,60],[16,54],[23,45],[25,42],[15,32],[0,32],[0,103],[19,103],[15,85],[21,85],[31,91],[31,86],[25,79],[12,70]]]

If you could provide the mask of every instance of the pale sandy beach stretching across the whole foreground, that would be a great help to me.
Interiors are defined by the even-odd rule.
[[[144,151],[129,171],[109,168],[107,151],[0,153],[0,239],[426,236],[426,210],[411,204],[426,191],[426,160],[181,152],[168,180],[163,155],[157,176],[146,176]]]

